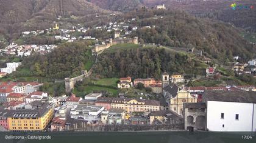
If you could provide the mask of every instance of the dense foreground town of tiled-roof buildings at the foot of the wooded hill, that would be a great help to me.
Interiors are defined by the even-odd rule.
[[[127,98],[126,95],[114,98],[102,93],[52,97],[40,91],[43,83],[0,82],[1,130],[68,131],[106,125],[147,126],[149,130],[152,125],[173,125],[168,130],[254,130],[256,110],[252,107],[256,103],[256,87],[177,84],[183,81],[182,75],[164,72],[161,80],[126,77],[120,78],[116,85],[118,88],[149,87],[153,93],[162,95],[159,99]]]

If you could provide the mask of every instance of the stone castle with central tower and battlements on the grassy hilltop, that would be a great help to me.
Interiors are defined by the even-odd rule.
[[[116,32],[114,35],[114,39],[110,38],[106,44],[95,45],[95,47],[93,48],[93,53],[101,52],[102,50],[105,50],[105,49],[111,47],[112,45],[116,45],[116,44],[123,44],[123,43],[138,44],[138,37],[120,38],[119,36],[120,36],[120,33]]]

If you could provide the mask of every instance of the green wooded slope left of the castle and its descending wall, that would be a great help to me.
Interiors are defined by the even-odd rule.
[[[35,53],[25,58],[13,77],[42,76],[50,79],[63,79],[81,75],[88,62],[91,62],[90,42],[65,43],[48,55]],[[24,71],[24,72],[23,72]]]

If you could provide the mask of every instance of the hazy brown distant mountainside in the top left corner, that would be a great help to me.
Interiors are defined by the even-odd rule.
[[[105,13],[110,11],[85,0],[0,0],[0,33],[18,32],[24,25],[44,27],[56,21],[58,16],[95,16]]]

